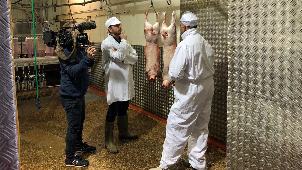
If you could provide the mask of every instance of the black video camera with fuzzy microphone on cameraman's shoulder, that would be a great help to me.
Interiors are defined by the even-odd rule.
[[[74,31],[77,29],[80,34],[76,36],[77,46],[88,47],[88,35],[84,33],[85,30],[95,29],[97,25],[94,21],[86,21],[81,24],[74,25],[72,27],[63,27],[60,31],[54,32],[50,28],[45,28],[43,30],[43,40],[44,44],[49,47],[55,47],[57,45],[56,37],[59,38],[59,44],[63,48],[71,48],[73,46],[72,34],[69,29]]]

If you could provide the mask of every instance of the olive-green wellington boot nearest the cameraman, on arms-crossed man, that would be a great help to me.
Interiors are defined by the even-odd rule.
[[[105,123],[105,148],[113,154],[119,152],[119,149],[113,144],[113,127],[114,122]]]

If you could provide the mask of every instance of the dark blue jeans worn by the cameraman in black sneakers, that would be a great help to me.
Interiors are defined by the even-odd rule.
[[[60,101],[66,112],[68,128],[66,132],[65,154],[71,159],[76,154],[75,146],[83,144],[82,131],[85,120],[85,98],[60,96]]]

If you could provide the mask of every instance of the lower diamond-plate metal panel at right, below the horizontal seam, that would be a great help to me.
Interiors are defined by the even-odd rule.
[[[227,169],[302,169],[302,108],[228,92]]]

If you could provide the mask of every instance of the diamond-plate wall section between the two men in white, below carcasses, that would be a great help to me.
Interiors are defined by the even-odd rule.
[[[145,75],[146,58],[145,46],[132,46],[138,54],[138,61],[133,66],[133,79],[136,96],[131,103],[155,113],[164,118],[168,117],[170,108],[174,102],[173,87],[162,88],[162,77],[155,83],[150,83]],[[163,48],[160,48],[160,65],[163,69]]]

